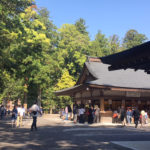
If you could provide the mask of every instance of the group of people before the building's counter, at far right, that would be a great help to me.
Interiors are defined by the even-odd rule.
[[[135,124],[137,128],[140,123],[141,126],[148,123],[148,112],[145,110],[139,111],[137,107],[128,107],[125,109],[123,106],[113,112],[113,123],[122,123],[123,126]]]

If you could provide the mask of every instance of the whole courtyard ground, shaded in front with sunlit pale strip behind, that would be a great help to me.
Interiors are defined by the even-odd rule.
[[[31,119],[22,128],[0,120],[2,150],[149,150],[150,127],[74,125],[58,115],[38,118],[38,131],[30,131]],[[141,142],[137,142],[141,141]],[[145,144],[143,144],[145,143]],[[142,147],[142,149],[141,149]],[[145,148],[145,149],[144,149]]]

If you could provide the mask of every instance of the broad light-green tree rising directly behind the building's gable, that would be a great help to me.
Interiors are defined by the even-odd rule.
[[[58,31],[60,32],[57,53],[59,64],[77,78],[88,54],[89,38],[81,34],[75,25],[64,24]]]

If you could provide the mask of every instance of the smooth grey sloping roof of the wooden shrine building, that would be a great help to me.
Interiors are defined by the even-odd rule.
[[[133,69],[109,71],[109,65],[99,62],[86,62],[89,72],[96,78],[88,84],[150,89],[150,75],[143,70]]]

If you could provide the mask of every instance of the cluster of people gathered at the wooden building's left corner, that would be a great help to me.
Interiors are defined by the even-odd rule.
[[[63,120],[71,120],[72,115],[74,123],[88,122],[89,124],[92,124],[100,122],[100,108],[98,107],[98,105],[96,105],[95,107],[85,107],[83,104],[74,105],[73,110],[68,105],[60,110],[60,117]]]

